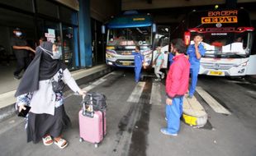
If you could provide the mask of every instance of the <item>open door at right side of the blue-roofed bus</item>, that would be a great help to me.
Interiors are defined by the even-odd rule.
[[[155,34],[154,39],[154,51],[153,51],[153,60],[157,57],[156,48],[161,47],[161,52],[164,53],[164,65],[163,68],[168,67],[168,53],[169,53],[169,42],[170,42],[170,27],[164,25],[157,26],[157,33]],[[154,66],[153,66],[154,67]]]

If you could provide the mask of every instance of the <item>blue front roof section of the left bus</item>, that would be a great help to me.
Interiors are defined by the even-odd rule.
[[[108,28],[134,28],[150,26],[153,24],[151,16],[148,15],[123,15],[113,18],[107,24]]]

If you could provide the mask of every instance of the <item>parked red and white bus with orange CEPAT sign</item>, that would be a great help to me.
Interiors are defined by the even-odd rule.
[[[244,9],[192,11],[184,22],[184,41],[193,44],[194,34],[203,35],[206,48],[199,74],[246,76],[256,74],[256,55],[251,52],[253,31]]]

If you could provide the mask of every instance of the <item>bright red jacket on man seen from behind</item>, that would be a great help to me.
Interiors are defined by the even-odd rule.
[[[184,54],[173,57],[168,76],[166,78],[166,94],[173,99],[187,93],[190,63]]]

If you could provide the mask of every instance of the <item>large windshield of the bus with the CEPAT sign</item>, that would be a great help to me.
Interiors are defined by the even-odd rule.
[[[205,33],[203,34],[202,42],[204,48],[206,48],[206,53],[204,57],[248,57],[250,54],[250,48],[252,47],[252,34],[251,32]],[[193,44],[193,41],[191,44]]]

